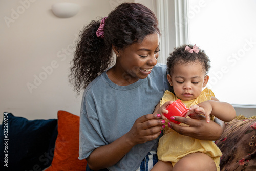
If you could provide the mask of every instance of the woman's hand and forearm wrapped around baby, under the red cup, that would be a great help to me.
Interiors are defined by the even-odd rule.
[[[179,134],[190,136],[200,140],[218,140],[224,131],[224,122],[218,118],[214,121],[206,123],[203,115],[197,115],[192,118],[184,118],[175,116],[174,120],[187,124],[189,126],[181,126],[173,122],[169,122],[168,126]]]

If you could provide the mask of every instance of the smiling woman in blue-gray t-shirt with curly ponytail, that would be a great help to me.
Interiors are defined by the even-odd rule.
[[[83,93],[79,159],[93,170],[150,170],[164,120],[152,114],[166,84],[166,65],[157,63],[158,21],[147,7],[123,3],[108,17],[92,21],[80,35],[70,79]],[[109,68],[116,54],[116,63]],[[176,118],[180,134],[217,140],[223,122]],[[214,129],[212,129],[214,127]],[[203,128],[203,129],[202,129]]]

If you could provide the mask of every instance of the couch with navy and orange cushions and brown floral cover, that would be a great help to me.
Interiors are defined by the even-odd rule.
[[[85,170],[87,161],[78,159],[79,116],[58,111],[57,119],[28,120],[5,112],[3,118],[0,170]],[[226,122],[215,143],[221,170],[256,170],[256,119]]]

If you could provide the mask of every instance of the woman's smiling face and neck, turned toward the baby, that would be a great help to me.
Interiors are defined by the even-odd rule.
[[[147,35],[142,42],[136,42],[124,49],[113,47],[116,64],[108,71],[109,78],[116,84],[125,86],[144,79],[157,64],[159,34]]]

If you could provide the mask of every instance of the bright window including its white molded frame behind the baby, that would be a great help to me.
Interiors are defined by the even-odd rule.
[[[211,60],[207,84],[216,97],[256,108],[255,0],[136,0],[150,7],[162,32],[158,62],[173,48],[197,44]]]

